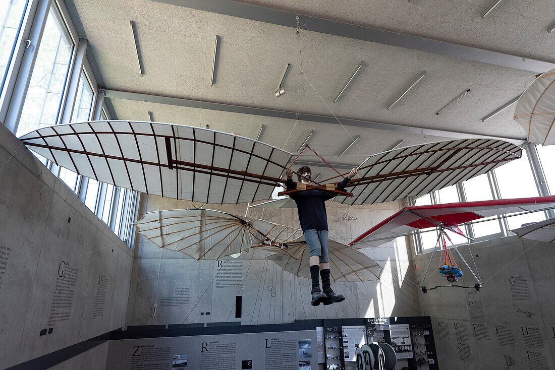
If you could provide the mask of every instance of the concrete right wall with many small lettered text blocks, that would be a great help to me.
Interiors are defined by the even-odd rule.
[[[441,369],[555,368],[555,277],[553,245],[516,236],[472,245],[483,288],[440,288],[420,294],[422,315],[432,318]],[[472,265],[468,247],[463,257]],[[430,254],[416,257],[421,280]],[[458,265],[463,265],[455,254]],[[448,284],[437,272],[439,256],[425,285]],[[474,285],[463,267],[459,283]],[[430,272],[428,272],[430,275]]]

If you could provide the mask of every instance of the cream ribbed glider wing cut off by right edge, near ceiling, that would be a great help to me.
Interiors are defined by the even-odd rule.
[[[542,73],[518,99],[514,120],[528,134],[528,141],[555,144],[555,69]]]

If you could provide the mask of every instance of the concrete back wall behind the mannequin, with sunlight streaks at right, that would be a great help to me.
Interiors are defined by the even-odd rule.
[[[139,219],[145,212],[200,207],[190,201],[143,196]],[[246,205],[204,205],[245,215]],[[330,238],[349,242],[399,209],[395,202],[348,207],[327,202]],[[249,216],[299,227],[297,210],[250,209]],[[310,318],[414,316],[419,302],[414,268],[409,266],[404,240],[364,252],[385,266],[381,281],[337,283],[334,290],[346,300],[331,306],[310,305],[310,281],[284,272],[274,262],[254,252],[226,263],[238,263],[243,283],[219,287],[218,261],[195,261],[179,252],[159,249],[137,236],[129,293],[127,325],[240,321],[244,325],[283,323]],[[224,259],[225,260],[225,259]],[[308,266],[306,266],[308,268]],[[220,276],[221,278],[221,276]],[[188,289],[184,295],[183,288]],[[188,297],[188,300],[182,299]],[[235,296],[242,296],[241,317],[235,317]],[[173,300],[173,306],[168,305]],[[157,303],[155,317],[150,313]],[[209,312],[209,315],[206,313]]]

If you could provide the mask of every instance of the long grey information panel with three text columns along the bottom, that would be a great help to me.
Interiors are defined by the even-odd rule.
[[[107,370],[317,370],[316,331],[120,339]]]

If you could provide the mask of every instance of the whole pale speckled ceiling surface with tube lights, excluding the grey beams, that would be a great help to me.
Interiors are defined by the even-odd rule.
[[[363,6],[366,2],[332,3],[314,0],[299,3],[300,5],[290,1],[256,3],[309,15],[316,12],[315,16],[350,20],[372,27],[461,43],[471,38],[470,32],[458,27],[460,23],[464,23],[460,18],[466,17],[467,22],[473,23],[475,21],[471,19],[474,17],[472,14],[480,13],[484,7],[482,1],[472,4],[452,2],[456,9],[455,14],[458,15],[455,17],[451,14],[447,17],[448,5],[440,1],[416,0],[410,3],[395,2],[398,3],[396,5],[390,1],[380,1],[372,3],[372,11],[365,10],[365,13],[362,10],[367,7]],[[480,21],[493,22],[494,16],[506,14],[501,12],[501,4],[499,12],[496,8],[490,14],[491,18],[488,16],[489,19],[482,19],[478,14]],[[305,30],[297,35],[295,29],[290,27],[148,0],[67,0],[67,5],[82,37],[89,40],[98,66],[95,73],[100,78],[97,79],[103,81],[105,87],[276,110],[276,117],[273,118],[110,99],[118,119],[148,120],[148,111],[151,111],[155,121],[196,126],[208,124],[211,129],[251,138],[256,137],[260,125],[264,124],[266,130],[261,140],[290,151],[296,151],[310,130],[314,130],[315,134],[309,144],[326,159],[346,164],[359,164],[365,155],[390,149],[401,139],[405,141],[403,145],[412,145],[446,138],[352,126],[343,128],[339,124],[307,121],[299,121],[295,125],[295,120],[280,118],[279,111],[300,111],[327,116],[335,114],[351,119],[507,138],[526,136],[512,120],[513,107],[485,123],[481,121],[483,116],[526,89],[535,74],[526,70]],[[413,12],[403,10],[404,7],[412,8]],[[415,11],[415,8],[419,10]],[[461,10],[467,8],[472,9],[472,12]],[[354,9],[359,9],[360,12]],[[372,17],[369,13],[372,13]],[[430,15],[425,16],[428,13]],[[331,14],[351,18],[337,18]],[[383,26],[385,18],[380,14],[389,19],[388,27]],[[407,14],[412,14],[412,17],[408,19]],[[436,21],[436,17],[443,20]],[[523,19],[528,19],[529,16],[514,17],[520,19],[518,22],[522,24]],[[375,19],[382,23],[374,23],[378,22]],[[409,20],[411,22],[407,23]],[[137,24],[140,54],[144,63],[142,77],[139,74],[129,21]],[[513,20],[514,22],[516,21]],[[545,28],[547,23],[549,22],[543,21],[541,27]],[[414,25],[414,32],[410,32],[409,25]],[[452,32],[448,33],[446,29],[452,29]],[[456,31],[457,29],[460,31]],[[531,29],[532,26],[522,28],[519,34],[519,37],[528,38],[531,46],[512,45],[519,53],[506,49],[504,45],[507,43],[493,41],[498,34],[493,31],[489,34],[491,39],[484,37],[482,44],[473,45],[553,61],[548,47],[533,47],[537,39],[536,31],[530,31]],[[553,39],[553,34],[548,34],[546,30],[543,32],[551,36],[549,40]],[[215,84],[210,86],[216,34],[220,37],[220,45]],[[552,41],[551,43],[553,46]],[[544,45],[548,45],[547,40]],[[349,88],[333,104],[335,96],[361,60],[363,67]],[[276,98],[274,92],[287,63],[291,63],[290,72],[284,82],[287,93]],[[302,74],[299,73],[301,63]],[[426,76],[421,82],[393,108],[387,110],[388,105],[423,71],[426,71]],[[466,89],[471,89],[471,92],[440,115],[436,115],[438,110]],[[361,136],[357,141],[360,149],[353,146],[344,156],[337,158],[337,153],[349,144],[349,135]],[[305,160],[315,161],[316,157],[309,156]]]

